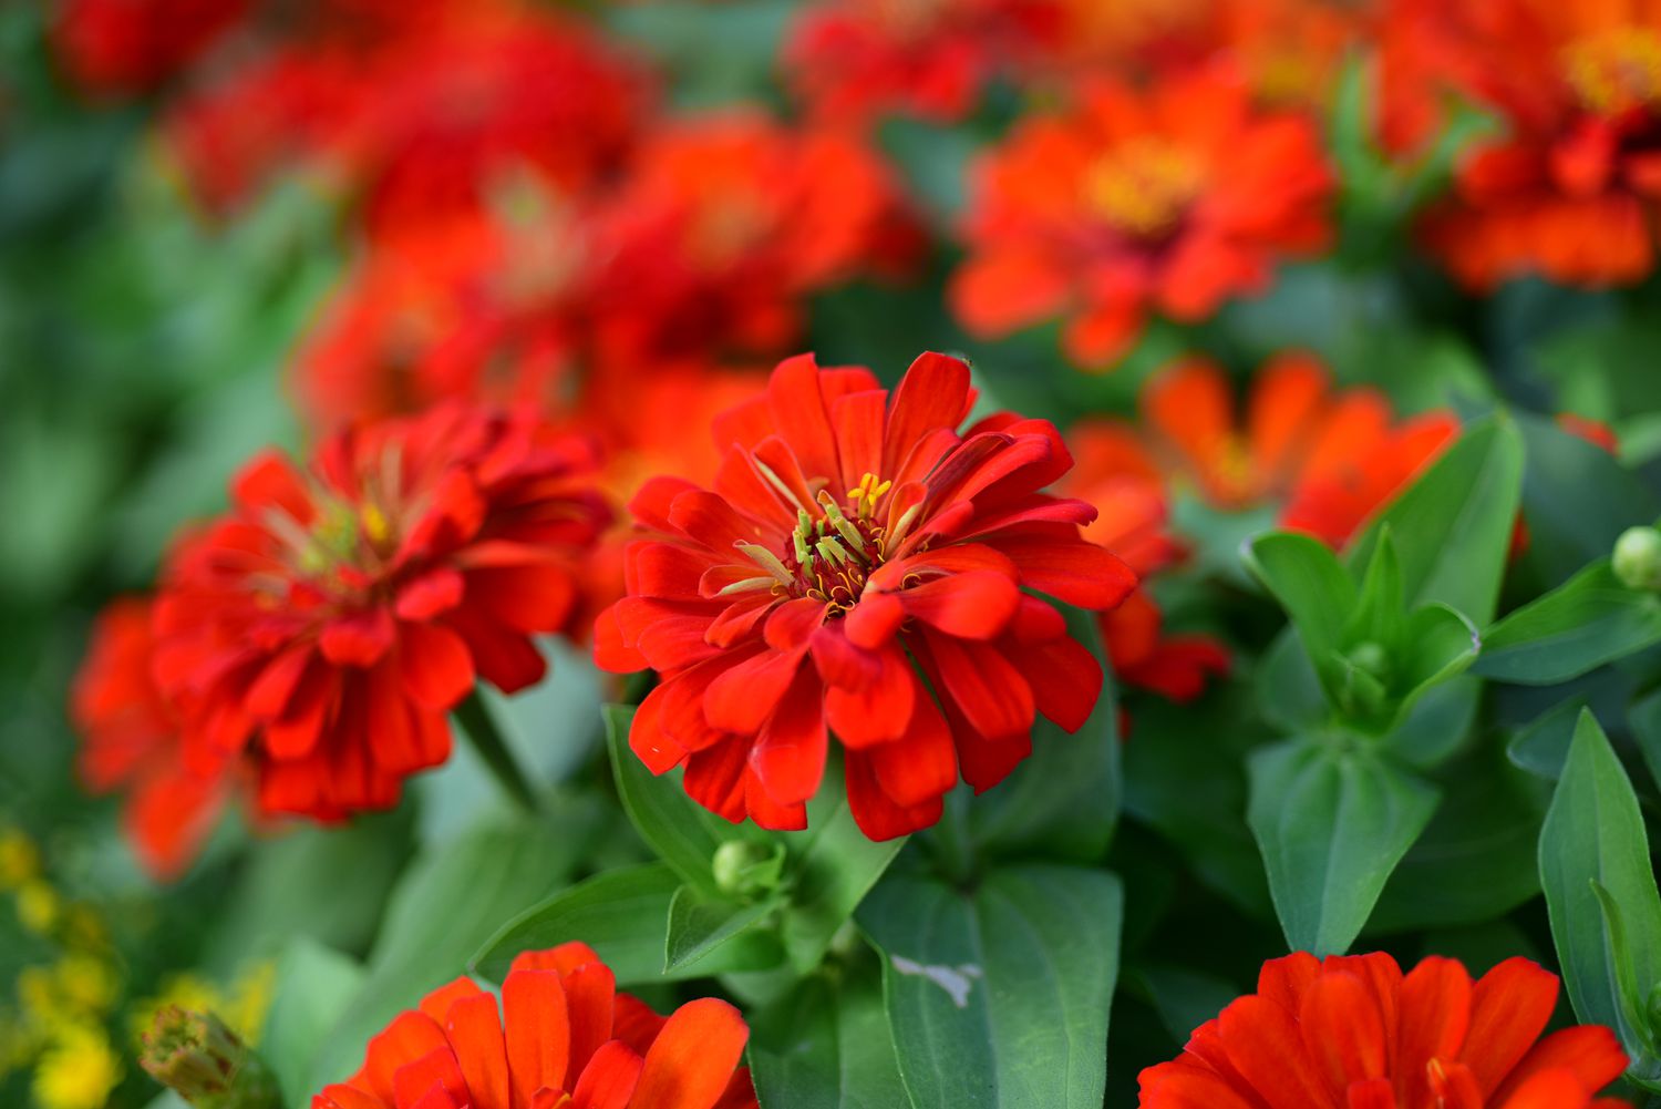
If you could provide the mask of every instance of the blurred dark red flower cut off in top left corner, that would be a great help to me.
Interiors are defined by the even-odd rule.
[[[247,0],[65,0],[51,38],[95,96],[148,93],[196,62],[247,15]]]

